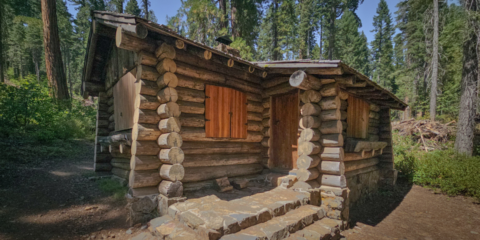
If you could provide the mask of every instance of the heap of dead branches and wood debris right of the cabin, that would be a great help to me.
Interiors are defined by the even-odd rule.
[[[401,136],[411,136],[421,143],[421,137],[432,142],[445,143],[455,135],[455,122],[442,124],[438,121],[415,120],[414,118],[391,123],[392,130]],[[421,133],[420,133],[421,132]]]

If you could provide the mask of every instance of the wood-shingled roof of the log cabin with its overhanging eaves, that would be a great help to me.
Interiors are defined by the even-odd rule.
[[[171,28],[149,21],[147,19],[131,15],[128,13],[117,13],[109,11],[92,11],[92,24],[90,27],[90,34],[88,36],[87,49],[85,54],[85,61],[82,74],[83,82],[101,83],[104,81],[104,64],[107,60],[111,43],[115,40],[115,24],[144,24],[149,31],[156,32],[162,35],[167,35],[177,39],[183,40],[186,44],[193,45],[205,50],[211,51],[213,54],[231,58],[244,66],[258,69],[255,74],[260,74],[266,71],[268,74],[291,74],[294,71],[301,69],[306,73],[317,75],[321,78],[338,79],[346,75],[350,80],[339,82],[340,87],[353,93],[358,97],[365,98],[373,103],[380,105],[388,105],[391,108],[404,110],[406,103],[401,101],[393,93],[381,87],[376,82],[370,80],[367,76],[361,74],[359,71],[341,62],[341,60],[312,60],[312,59],[297,59],[297,60],[279,60],[279,61],[258,61],[250,62],[240,57],[219,51],[215,48],[209,47],[203,43],[196,42],[181,36]],[[103,30],[95,30],[95,22],[97,24],[106,25],[110,27],[103,27]],[[344,77],[343,77],[344,78]],[[338,80],[337,80],[338,81]],[[82,84],[83,85],[83,84]],[[83,94],[83,88],[81,89]]]

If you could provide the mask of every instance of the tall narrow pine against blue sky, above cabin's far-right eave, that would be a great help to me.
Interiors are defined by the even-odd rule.
[[[385,0],[380,0],[373,16],[372,32],[375,32],[375,39],[370,43],[373,54],[373,78],[378,84],[389,90],[393,89],[394,82],[389,74],[393,72],[393,44],[392,35],[394,32],[390,10]]]

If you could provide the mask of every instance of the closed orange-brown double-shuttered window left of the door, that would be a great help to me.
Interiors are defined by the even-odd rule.
[[[246,138],[246,94],[205,85],[205,136]]]

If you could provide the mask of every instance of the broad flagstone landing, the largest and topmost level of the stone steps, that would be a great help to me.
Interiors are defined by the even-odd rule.
[[[168,208],[168,215],[194,229],[201,237],[216,240],[225,234],[284,215],[308,203],[309,195],[274,188],[231,201],[214,195],[188,199]]]

